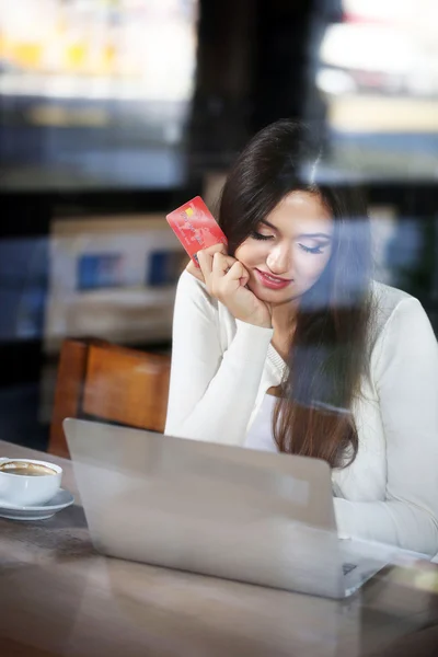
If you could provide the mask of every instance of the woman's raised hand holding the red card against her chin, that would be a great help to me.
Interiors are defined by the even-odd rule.
[[[223,303],[237,320],[272,327],[270,308],[247,289],[247,270],[241,262],[227,254],[223,244],[215,244],[198,251],[196,255],[200,272],[198,269],[195,274],[193,264],[188,265],[187,270],[199,279],[201,275],[209,295]]]

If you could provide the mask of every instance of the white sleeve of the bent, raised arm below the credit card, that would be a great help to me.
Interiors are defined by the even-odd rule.
[[[272,336],[270,328],[238,321],[222,353],[216,301],[184,272],[173,318],[165,434],[243,445]]]

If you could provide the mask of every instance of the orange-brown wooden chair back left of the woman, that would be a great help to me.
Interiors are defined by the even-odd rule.
[[[48,451],[69,457],[62,420],[81,417],[163,433],[170,356],[99,339],[65,339]]]

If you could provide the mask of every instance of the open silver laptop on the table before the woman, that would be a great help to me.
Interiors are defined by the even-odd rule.
[[[344,598],[396,550],[339,540],[323,461],[71,418],[64,429],[103,554]]]

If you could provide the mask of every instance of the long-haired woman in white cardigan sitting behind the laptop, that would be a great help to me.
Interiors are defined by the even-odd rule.
[[[416,299],[371,280],[366,211],[316,185],[307,137],[268,126],[229,173],[228,253],[178,284],[165,431],[325,459],[341,534],[433,555],[437,341]]]

